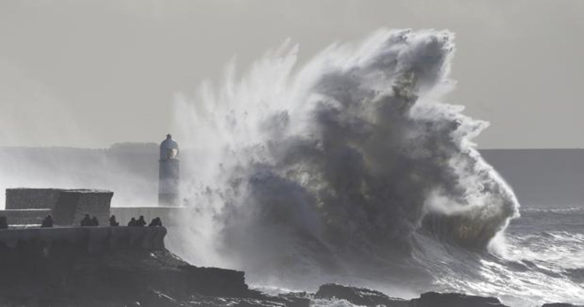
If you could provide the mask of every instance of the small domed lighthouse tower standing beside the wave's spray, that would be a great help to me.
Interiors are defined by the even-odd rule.
[[[179,206],[179,145],[171,134],[166,134],[166,139],[160,144],[158,164],[158,205]]]

